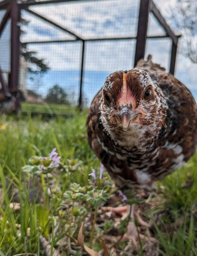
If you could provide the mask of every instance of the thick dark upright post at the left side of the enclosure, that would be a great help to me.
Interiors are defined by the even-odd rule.
[[[11,0],[11,73],[9,79],[9,90],[14,93],[18,91],[19,58],[20,58],[20,10],[16,0]]]

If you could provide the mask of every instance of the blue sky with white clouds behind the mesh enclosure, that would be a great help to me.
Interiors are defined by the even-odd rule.
[[[170,24],[170,12],[176,8],[176,0],[155,0],[154,2]],[[132,37],[136,36],[137,33],[139,0],[67,2],[56,5],[34,6],[31,7],[31,10],[54,20],[83,39]],[[23,42],[74,39],[72,35],[54,28],[26,11],[22,12],[22,16],[29,21],[29,24],[22,28],[26,31],[21,36]],[[0,17],[2,17],[2,12],[0,12]],[[0,66],[5,69],[9,66],[8,47],[5,47],[5,45],[9,45],[8,34],[9,28],[4,31],[4,35],[0,38],[0,46],[4,46],[4,50],[0,54]],[[163,28],[150,14],[148,36],[164,34]],[[181,40],[179,41],[179,49],[181,49]],[[31,89],[35,88],[39,93],[45,95],[48,88],[52,87],[54,83],[59,83],[61,86],[77,93],[80,73],[74,72],[74,70],[80,70],[81,68],[81,47],[80,41],[59,44],[29,44],[28,49],[36,51],[36,56],[44,59],[50,70],[42,78],[37,77],[35,81],[28,79],[27,86]],[[145,57],[152,54],[153,61],[160,63],[168,71],[170,68],[170,50],[170,39],[147,39]],[[86,43],[84,69],[87,72],[84,77],[84,91],[89,100],[104,83],[104,76],[116,70],[132,69],[134,67],[134,51],[135,40]],[[71,71],[70,74],[69,71]],[[191,63],[179,51],[175,77],[185,83],[189,89],[197,89],[197,64]]]

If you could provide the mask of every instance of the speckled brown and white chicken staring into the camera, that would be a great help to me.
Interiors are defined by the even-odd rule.
[[[197,104],[189,89],[149,55],[134,69],[107,77],[91,102],[87,135],[117,187],[150,195],[155,181],[182,167],[195,153]],[[146,226],[135,205],[127,212]],[[138,242],[134,222],[128,235]]]

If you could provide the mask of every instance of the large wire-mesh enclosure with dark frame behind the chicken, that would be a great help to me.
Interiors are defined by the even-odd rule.
[[[148,54],[174,74],[178,39],[152,0],[4,0],[2,93],[25,112],[70,113],[90,105],[110,72]]]

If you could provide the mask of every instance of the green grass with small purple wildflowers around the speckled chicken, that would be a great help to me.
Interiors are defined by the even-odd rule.
[[[125,202],[107,172],[99,177],[99,161],[86,139],[86,116],[1,117],[0,256],[197,255],[197,154],[158,182],[145,201],[128,199],[152,222],[143,232],[156,243],[141,241],[126,251],[129,241],[102,242],[105,235],[126,231],[126,222],[114,225],[117,220],[102,206]]]

